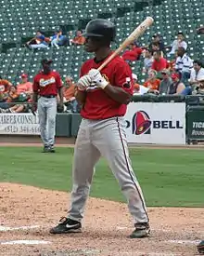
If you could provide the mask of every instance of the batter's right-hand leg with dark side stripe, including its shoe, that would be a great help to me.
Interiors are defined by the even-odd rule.
[[[132,168],[123,118],[110,118],[98,122],[94,141],[101,155],[108,160],[108,165],[127,198],[128,208],[134,217],[133,237],[147,236],[149,226],[146,202]]]

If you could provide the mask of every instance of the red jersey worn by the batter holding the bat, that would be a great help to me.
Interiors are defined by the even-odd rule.
[[[105,60],[103,60],[105,61]],[[103,61],[96,62],[95,59],[85,61],[81,69],[81,76],[88,74],[91,69],[97,69]],[[130,66],[117,56],[103,68],[101,74],[108,80],[112,87],[123,88],[133,95],[133,77]],[[81,110],[81,115],[86,119],[107,119],[113,116],[125,115],[126,104],[112,100],[101,88],[88,88],[86,100]]]

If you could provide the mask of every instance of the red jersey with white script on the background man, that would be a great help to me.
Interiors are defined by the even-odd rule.
[[[41,96],[57,96],[58,89],[62,88],[60,74],[55,71],[51,71],[49,74],[40,72],[34,76],[32,88],[33,92],[37,92]]]

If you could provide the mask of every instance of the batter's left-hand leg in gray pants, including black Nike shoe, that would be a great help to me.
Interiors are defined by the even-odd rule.
[[[73,184],[68,218],[61,219],[57,226],[50,230],[52,234],[81,232],[81,222],[95,171],[94,167],[100,157],[99,151],[91,142],[90,135],[89,121],[83,120],[74,148]]]

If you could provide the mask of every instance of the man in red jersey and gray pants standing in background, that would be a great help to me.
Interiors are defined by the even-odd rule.
[[[32,111],[38,109],[44,153],[55,153],[57,93],[60,99],[59,107],[63,108],[61,78],[57,72],[51,70],[51,63],[51,60],[42,61],[43,70],[34,76],[32,85]]]

